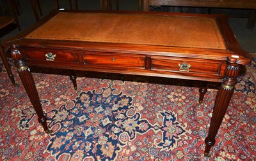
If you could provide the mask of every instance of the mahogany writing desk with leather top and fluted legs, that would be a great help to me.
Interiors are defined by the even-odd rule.
[[[51,130],[29,66],[222,82],[205,155],[215,143],[239,68],[250,62],[221,15],[54,11],[2,46],[15,60],[45,132]],[[200,101],[205,92],[200,89]]]

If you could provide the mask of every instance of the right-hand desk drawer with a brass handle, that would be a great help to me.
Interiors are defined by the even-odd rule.
[[[152,57],[152,70],[223,75],[226,65],[218,60]]]

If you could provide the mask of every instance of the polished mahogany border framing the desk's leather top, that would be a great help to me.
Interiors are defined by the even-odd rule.
[[[77,13],[117,13],[117,14],[144,14],[144,15],[166,15],[166,16],[181,16],[181,17],[209,17],[209,18],[214,18],[218,24],[218,27],[220,28],[220,32],[223,36],[223,39],[225,39],[225,46],[226,50],[215,50],[215,52],[219,52],[221,54],[216,55],[216,59],[222,59],[222,60],[231,60],[231,62],[236,62],[234,58],[232,58],[232,55],[239,55],[239,61],[236,62],[238,64],[244,65],[248,63],[248,59],[251,59],[251,56],[248,54],[248,52],[244,51],[241,49],[241,46],[239,46],[239,43],[234,36],[232,30],[230,29],[229,25],[225,23],[227,21],[227,17],[225,15],[202,15],[202,14],[191,14],[191,13],[153,13],[153,12],[136,12],[136,11],[70,11],[70,10],[65,10],[65,11],[58,11],[58,10],[53,10],[47,17],[43,18],[39,22],[37,22],[35,25],[29,27],[24,32],[21,32],[17,36],[14,36],[13,38],[6,39],[1,43],[3,48],[10,48],[12,47],[18,47],[20,46],[19,42],[26,42],[26,36],[32,31],[35,31],[38,27],[40,27],[42,24],[50,20],[52,17],[57,15],[60,12],[77,12]],[[228,32],[227,32],[228,31]],[[29,40],[28,40],[29,41]],[[25,46],[42,46],[44,47],[44,42],[47,42],[42,39],[34,39],[35,44],[26,44]],[[93,46],[95,45],[96,47],[99,47],[99,45],[102,46],[102,50],[108,51],[108,46],[111,46],[111,49],[113,49],[113,45],[117,45],[116,51],[115,52],[122,52],[123,48],[127,48],[127,46],[132,46],[132,48],[137,48],[134,50],[136,53],[142,53],[145,54],[145,52],[148,52],[147,45],[134,45],[134,44],[118,44],[118,43],[92,43],[92,42],[80,42],[77,41],[76,43],[73,43],[72,45],[68,45],[70,41],[60,41],[60,46],[63,48],[63,45],[67,46],[67,48],[72,48],[76,49],[76,44],[77,44],[77,50],[83,50],[84,48],[81,48],[81,46],[84,46],[86,48],[86,45]],[[106,45],[106,46],[105,46]],[[64,46],[64,47],[65,47]],[[71,47],[72,46],[72,47]],[[58,45],[52,46],[52,48],[58,48]],[[90,47],[93,48],[93,47]],[[170,53],[168,50],[172,50],[174,53],[182,53],[182,52],[190,52],[192,55],[200,55],[202,53],[209,53],[212,52],[212,49],[207,49],[207,48],[182,48],[182,47],[177,47],[177,46],[154,46],[154,48],[157,48],[157,52],[161,55],[164,53]],[[152,48],[150,48],[152,52]],[[199,52],[195,52],[199,51]],[[202,51],[202,52],[200,52]],[[193,56],[194,56],[193,55]],[[204,55],[204,54],[203,54]],[[204,55],[202,58],[207,57],[207,55]],[[244,57],[244,60],[243,60]],[[207,57],[208,58],[208,57]],[[213,58],[214,59],[214,58]]]

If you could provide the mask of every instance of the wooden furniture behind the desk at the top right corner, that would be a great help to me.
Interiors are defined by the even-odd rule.
[[[247,28],[253,29],[256,22],[256,1],[255,0],[143,0],[143,10],[149,11],[149,6],[189,6],[207,8],[238,8],[250,10]]]

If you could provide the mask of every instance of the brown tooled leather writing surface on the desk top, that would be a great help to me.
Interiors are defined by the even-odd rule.
[[[60,12],[28,39],[225,49],[213,18]]]

